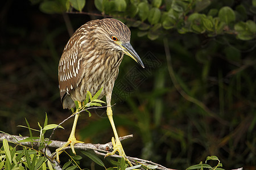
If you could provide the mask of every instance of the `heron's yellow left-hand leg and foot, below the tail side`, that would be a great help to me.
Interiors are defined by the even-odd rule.
[[[81,108],[81,107],[82,107],[81,102],[78,101],[78,103],[79,103],[79,108]],[[57,148],[57,149],[56,149],[56,160],[57,160],[57,162],[60,162],[59,155],[61,154],[61,152],[63,152],[63,149],[64,149],[65,147],[67,147],[67,146],[70,145],[73,154],[76,155],[74,145],[75,145],[76,143],[84,143],[84,142],[81,142],[81,141],[77,141],[77,140],[76,140],[76,137],[75,137],[76,124],[77,124],[78,118],[79,118],[79,114],[76,114],[76,115],[75,115],[75,120],[74,120],[74,122],[73,122],[73,127],[72,127],[71,133],[70,133],[69,138],[68,138],[68,142],[65,143],[63,146],[61,146],[60,148]]]

